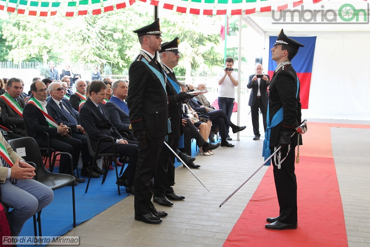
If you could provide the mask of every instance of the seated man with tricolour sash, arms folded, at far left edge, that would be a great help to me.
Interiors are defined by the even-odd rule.
[[[0,96],[1,113],[4,116],[4,124],[16,126],[16,132],[20,136],[25,136],[23,122],[24,101],[20,97],[23,90],[21,80],[10,78],[7,83],[7,93]]]

